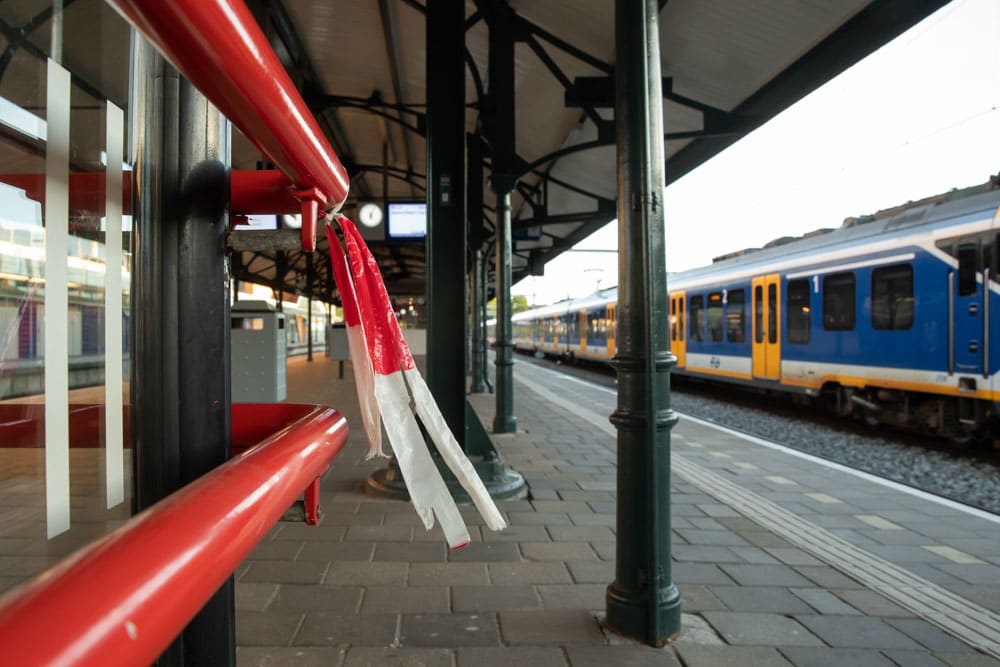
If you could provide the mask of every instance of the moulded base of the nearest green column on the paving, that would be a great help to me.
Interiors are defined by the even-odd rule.
[[[615,583],[608,586],[605,604],[608,629],[660,648],[681,631],[681,594],[670,584],[661,591],[657,609],[650,608],[648,591],[619,589]],[[655,627],[651,614],[655,612]]]

